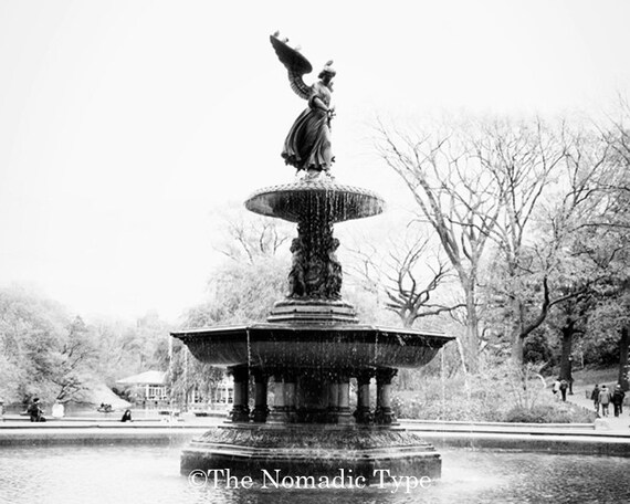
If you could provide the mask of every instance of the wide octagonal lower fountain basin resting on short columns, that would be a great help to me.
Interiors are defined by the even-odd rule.
[[[428,364],[451,339],[438,333],[372,325],[260,323],[171,333],[203,363],[301,368]]]

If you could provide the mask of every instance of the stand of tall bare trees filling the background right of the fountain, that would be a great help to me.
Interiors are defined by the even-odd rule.
[[[592,338],[615,335],[623,379],[630,111],[627,103],[620,109],[620,118],[606,125],[539,117],[469,117],[424,127],[377,122],[378,154],[412,195],[414,219],[424,224],[418,235],[439,243],[456,283],[460,298],[450,312],[462,325],[464,370],[477,369],[487,354],[517,365],[544,359],[546,336],[557,332],[560,375],[578,338],[592,348]],[[411,277],[417,269],[403,261],[393,271]],[[447,276],[440,264],[427,292]],[[392,280],[386,290],[393,302],[386,307],[400,309],[416,286]],[[426,305],[412,311],[431,313]]]

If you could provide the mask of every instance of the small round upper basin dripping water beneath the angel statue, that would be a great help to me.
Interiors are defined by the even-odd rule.
[[[335,183],[323,175],[260,189],[248,198],[245,207],[290,222],[325,216],[334,223],[377,216],[384,211],[385,201],[371,191]]]

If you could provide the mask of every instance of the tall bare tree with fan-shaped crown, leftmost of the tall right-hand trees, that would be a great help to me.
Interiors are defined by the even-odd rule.
[[[480,348],[479,272],[498,217],[502,188],[480,164],[466,127],[407,134],[378,122],[376,129],[380,157],[413,195],[420,219],[438,234],[459,279],[466,313],[468,367],[474,370]]]

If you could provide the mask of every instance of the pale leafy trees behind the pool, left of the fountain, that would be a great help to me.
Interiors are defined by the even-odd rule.
[[[0,288],[0,398],[91,403],[102,384],[115,389],[126,376],[166,369],[169,330],[155,313],[86,323],[33,290]]]

